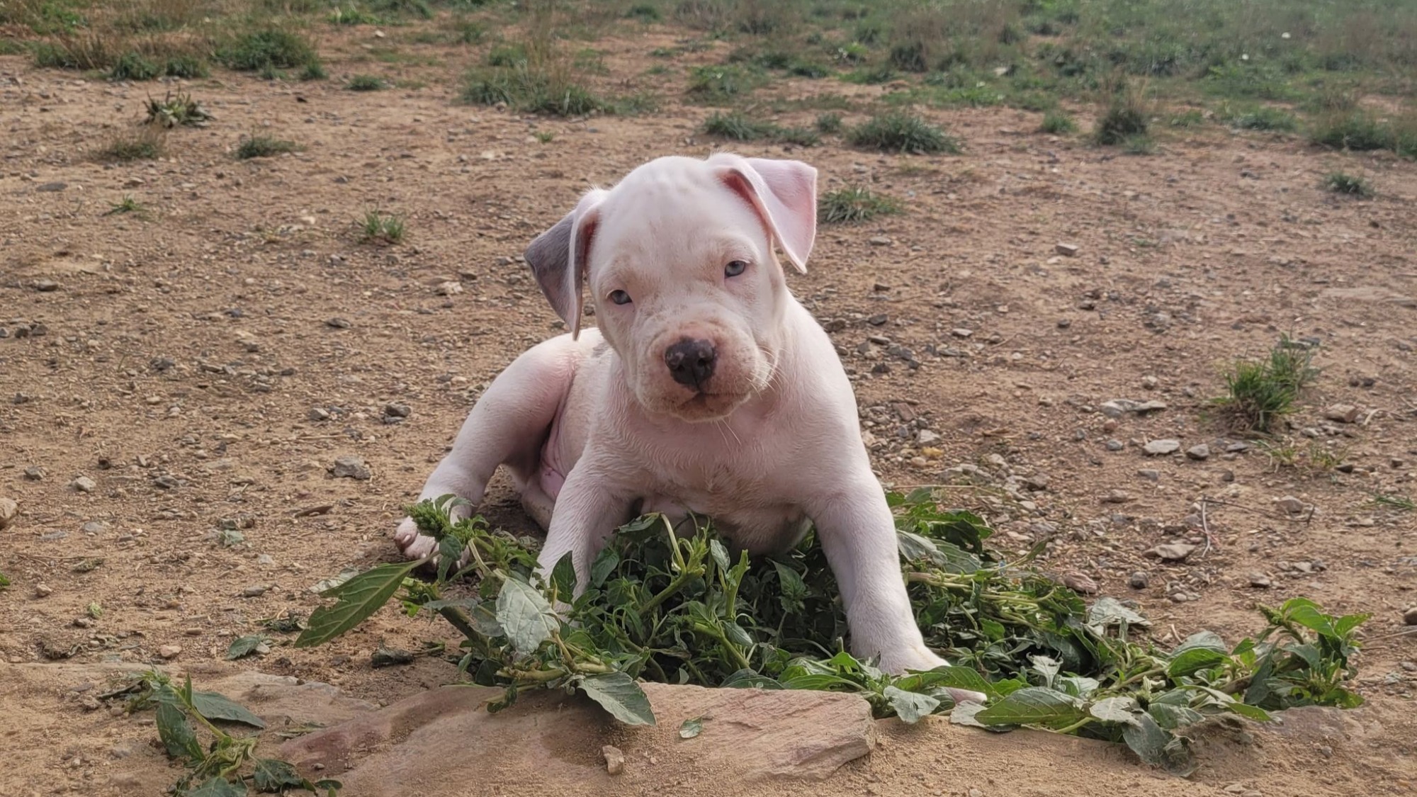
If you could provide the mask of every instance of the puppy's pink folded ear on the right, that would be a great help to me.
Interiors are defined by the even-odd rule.
[[[752,206],[792,265],[806,274],[816,240],[816,169],[801,160],[728,153],[714,155],[708,163],[723,167],[718,179]]]

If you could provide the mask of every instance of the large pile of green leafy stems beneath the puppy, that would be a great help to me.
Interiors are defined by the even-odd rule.
[[[574,593],[570,554],[534,573],[529,540],[458,519],[453,496],[410,508],[438,540],[425,560],[380,564],[323,594],[296,647],[333,640],[395,594],[410,615],[436,613],[462,635],[459,669],[502,686],[489,710],[526,689],[580,691],[631,725],[655,722],[638,679],[706,686],[828,689],[864,698],[877,716],[1006,730],[1017,726],[1128,745],[1152,764],[1195,766],[1186,728],[1212,716],[1267,720],[1299,705],[1356,706],[1355,630],[1365,615],[1331,617],[1294,598],[1261,608],[1265,627],[1236,645],[1200,631],[1173,650],[1146,638],[1149,623],[1114,598],[1088,606],[1066,586],[1006,562],[971,512],[935,494],[888,494],[903,579],[927,644],[952,667],[890,675],[845,651],[846,618],[820,546],[731,556],[708,525],[682,529],[646,515],[621,529]],[[1036,552],[1034,552],[1036,553]],[[436,564],[432,580],[412,577]],[[463,579],[466,576],[466,579]],[[955,706],[948,689],[983,692]],[[691,725],[680,735],[696,733]]]

